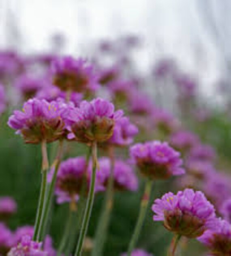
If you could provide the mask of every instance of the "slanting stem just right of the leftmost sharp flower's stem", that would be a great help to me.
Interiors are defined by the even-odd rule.
[[[62,148],[63,148],[63,141],[60,140],[58,153],[57,153],[56,159],[53,162],[55,171],[52,176],[51,184],[48,187],[47,198],[45,201],[45,207],[44,207],[42,218],[41,218],[41,224],[39,226],[39,231],[38,231],[38,240],[39,241],[43,240],[43,235],[44,235],[43,231],[45,230],[45,225],[47,224],[47,218],[49,217],[49,211],[51,208],[51,199],[53,196],[53,191],[54,191],[54,187],[55,187],[55,183],[56,183],[56,177],[57,177],[57,173],[58,173],[58,169],[59,169],[60,161],[61,161],[61,157],[62,157]]]

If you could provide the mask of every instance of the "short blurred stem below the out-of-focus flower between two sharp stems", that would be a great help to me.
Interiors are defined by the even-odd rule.
[[[61,242],[60,242],[60,246],[58,248],[58,254],[57,256],[61,256],[62,253],[64,252],[64,249],[66,249],[68,240],[70,238],[70,234],[71,234],[71,229],[73,228],[73,220],[75,218],[76,212],[71,210],[71,207],[69,208],[69,214],[68,214],[68,218],[66,221],[66,226],[65,226],[65,230],[64,230],[64,234],[62,236]]]

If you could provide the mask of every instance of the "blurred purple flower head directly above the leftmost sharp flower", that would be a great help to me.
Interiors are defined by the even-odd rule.
[[[29,77],[28,75],[22,75],[16,81],[16,88],[27,100],[35,96],[36,92],[39,91],[45,85],[45,81],[42,79]]]

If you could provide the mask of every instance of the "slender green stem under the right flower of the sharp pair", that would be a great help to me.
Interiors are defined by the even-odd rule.
[[[93,202],[94,202],[96,166],[97,166],[97,144],[96,144],[96,142],[93,142],[93,144],[92,144],[92,175],[91,175],[90,191],[88,194],[86,209],[84,212],[81,231],[79,234],[79,241],[78,241],[74,256],[80,256],[82,254],[83,242],[84,242],[87,230],[88,230],[88,223],[90,220],[92,206],[93,206]]]

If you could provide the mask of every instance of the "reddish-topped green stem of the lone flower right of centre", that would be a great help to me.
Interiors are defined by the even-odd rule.
[[[148,179],[145,184],[145,190],[143,193],[143,197],[141,199],[141,204],[140,204],[140,209],[139,209],[139,217],[137,219],[135,230],[133,232],[133,236],[132,236],[129,246],[128,246],[128,256],[131,255],[133,249],[135,248],[137,240],[139,238],[139,234],[141,232],[141,228],[143,226],[143,221],[145,219],[145,215],[147,212],[151,190],[152,190],[152,180]]]

